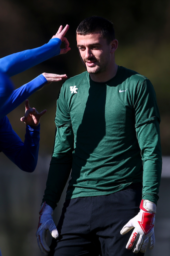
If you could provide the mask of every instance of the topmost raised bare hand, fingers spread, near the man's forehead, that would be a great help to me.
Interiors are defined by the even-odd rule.
[[[71,48],[69,47],[69,41],[64,36],[68,31],[68,28],[69,28],[69,25],[66,25],[64,28],[62,25],[60,25],[56,34],[52,36],[52,38],[59,38],[62,42],[65,43],[65,48],[61,49],[60,54],[67,53],[69,50],[71,50]]]

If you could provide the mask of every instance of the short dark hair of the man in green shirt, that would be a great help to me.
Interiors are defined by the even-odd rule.
[[[99,16],[85,18],[80,22],[76,30],[76,33],[80,35],[92,34],[94,32],[100,32],[101,36],[106,38],[108,43],[115,39],[113,23]]]

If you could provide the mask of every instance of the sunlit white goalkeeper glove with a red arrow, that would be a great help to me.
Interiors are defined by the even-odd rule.
[[[131,237],[126,245],[127,249],[132,249],[134,253],[139,251],[145,252],[147,246],[153,249],[155,245],[155,213],[156,204],[147,199],[143,199],[140,204],[140,212],[134,218],[131,218],[120,231],[121,234],[126,234],[134,228]]]

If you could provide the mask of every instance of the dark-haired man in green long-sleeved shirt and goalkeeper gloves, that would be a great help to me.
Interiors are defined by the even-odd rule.
[[[86,18],[76,34],[87,71],[65,81],[57,100],[38,245],[54,256],[144,255],[155,244],[162,170],[155,91],[147,77],[116,64],[110,21]],[[56,228],[52,212],[69,175]],[[47,229],[58,237],[51,250]]]

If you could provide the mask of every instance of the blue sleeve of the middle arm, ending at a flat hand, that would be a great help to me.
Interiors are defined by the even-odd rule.
[[[30,82],[13,90],[12,93],[10,93],[10,95],[7,97],[6,101],[3,102],[3,104],[0,102],[0,118],[12,111],[32,93],[40,89],[45,83],[47,83],[47,79],[42,74],[40,74]]]

